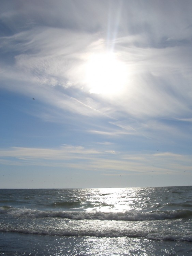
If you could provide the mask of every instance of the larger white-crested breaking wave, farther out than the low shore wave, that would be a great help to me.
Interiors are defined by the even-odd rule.
[[[101,221],[155,221],[163,219],[192,218],[191,210],[172,211],[125,211],[125,212],[100,212],[100,211],[41,211],[26,208],[0,207],[0,214],[10,214],[14,217],[35,218],[67,218],[74,220],[92,219]]]

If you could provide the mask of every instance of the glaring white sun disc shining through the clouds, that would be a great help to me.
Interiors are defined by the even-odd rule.
[[[85,83],[90,93],[108,96],[120,94],[127,76],[127,66],[114,53],[92,54],[86,62]]]

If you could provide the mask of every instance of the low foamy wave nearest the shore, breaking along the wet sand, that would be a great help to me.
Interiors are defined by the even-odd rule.
[[[169,241],[184,241],[192,242],[191,234],[182,233],[153,233],[147,231],[133,231],[133,230],[57,230],[54,228],[49,229],[29,229],[29,228],[1,228],[1,232],[16,232],[24,234],[41,234],[50,236],[87,236],[87,237],[131,237],[131,238],[146,238],[153,240],[169,240]]]

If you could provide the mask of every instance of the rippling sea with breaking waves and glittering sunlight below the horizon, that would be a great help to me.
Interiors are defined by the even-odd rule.
[[[0,255],[192,255],[192,186],[0,189]]]

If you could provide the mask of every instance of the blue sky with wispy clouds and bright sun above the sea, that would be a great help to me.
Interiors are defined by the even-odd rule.
[[[0,188],[192,185],[191,0],[1,0]]]

